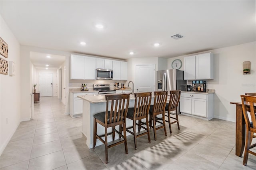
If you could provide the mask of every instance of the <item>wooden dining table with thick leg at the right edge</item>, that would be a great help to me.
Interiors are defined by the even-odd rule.
[[[242,101],[230,102],[230,104],[236,105],[236,155],[242,156],[244,152],[245,144],[245,120],[242,110]],[[248,102],[245,102],[246,109],[249,111],[250,105]],[[256,105],[254,106],[256,108]]]

